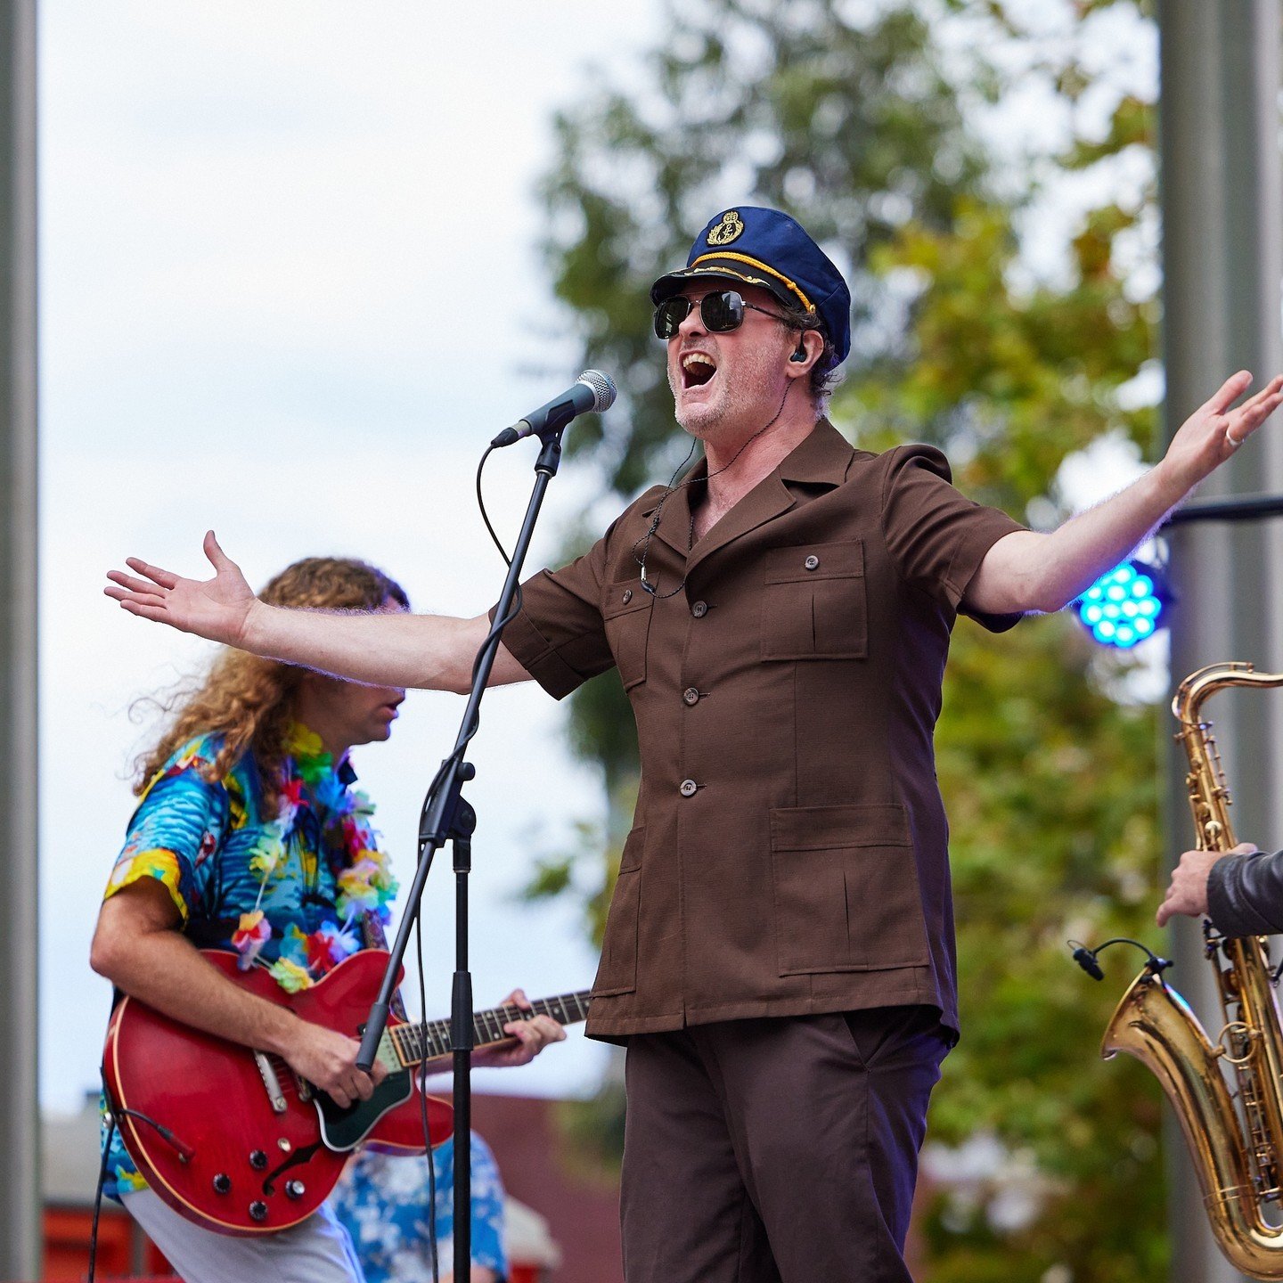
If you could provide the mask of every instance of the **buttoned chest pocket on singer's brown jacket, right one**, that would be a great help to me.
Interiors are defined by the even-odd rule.
[[[869,654],[862,540],[772,548],[763,563],[763,659]]]

